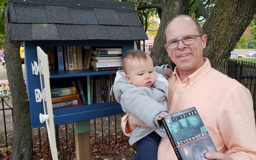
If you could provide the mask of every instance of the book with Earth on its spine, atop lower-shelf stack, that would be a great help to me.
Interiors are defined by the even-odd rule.
[[[52,97],[60,97],[60,96],[74,95],[74,94],[76,94],[75,87],[52,87],[51,88]]]

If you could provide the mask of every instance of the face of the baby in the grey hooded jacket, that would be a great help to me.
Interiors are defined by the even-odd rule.
[[[125,78],[136,87],[151,87],[156,81],[154,65],[149,57],[144,60],[129,60]]]

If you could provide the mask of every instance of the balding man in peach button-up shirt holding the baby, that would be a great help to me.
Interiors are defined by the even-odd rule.
[[[196,107],[218,152],[205,154],[208,159],[256,159],[256,127],[252,96],[236,80],[211,68],[203,58],[207,35],[190,16],[172,19],[165,31],[165,48],[176,64],[169,76],[171,112]],[[129,135],[134,126],[148,127],[135,116],[122,118],[122,128]],[[168,138],[162,138],[158,160],[177,159]]]

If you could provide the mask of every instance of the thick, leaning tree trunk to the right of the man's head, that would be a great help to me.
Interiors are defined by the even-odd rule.
[[[230,52],[250,24],[256,11],[256,0],[218,0],[203,25],[207,34],[204,57],[213,68],[226,74]]]

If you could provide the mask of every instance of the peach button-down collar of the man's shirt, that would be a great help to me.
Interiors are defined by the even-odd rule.
[[[189,84],[193,85],[197,80],[199,80],[201,77],[203,77],[210,69],[211,69],[211,64],[208,58],[203,58],[204,64],[200,68],[198,68],[194,73],[190,74],[188,78],[184,79],[187,80],[189,79]],[[173,71],[173,77],[174,81],[173,83],[177,80],[177,78],[180,80],[177,72],[177,67],[174,68]]]

